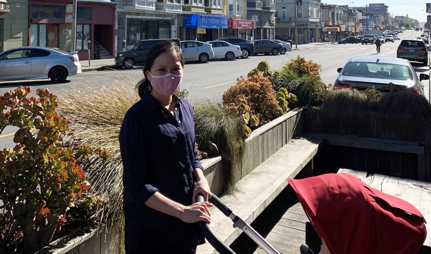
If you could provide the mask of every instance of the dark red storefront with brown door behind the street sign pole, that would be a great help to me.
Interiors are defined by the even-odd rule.
[[[72,24],[66,23],[66,4],[72,1],[30,0],[30,46],[48,46],[71,52]],[[115,52],[116,3],[106,0],[78,1],[76,10],[76,48],[80,60],[88,60],[87,40],[91,41],[91,56],[106,50],[109,56]],[[95,46],[96,45],[96,46]],[[96,48],[96,50],[94,50]],[[97,52],[95,52],[97,51]]]

